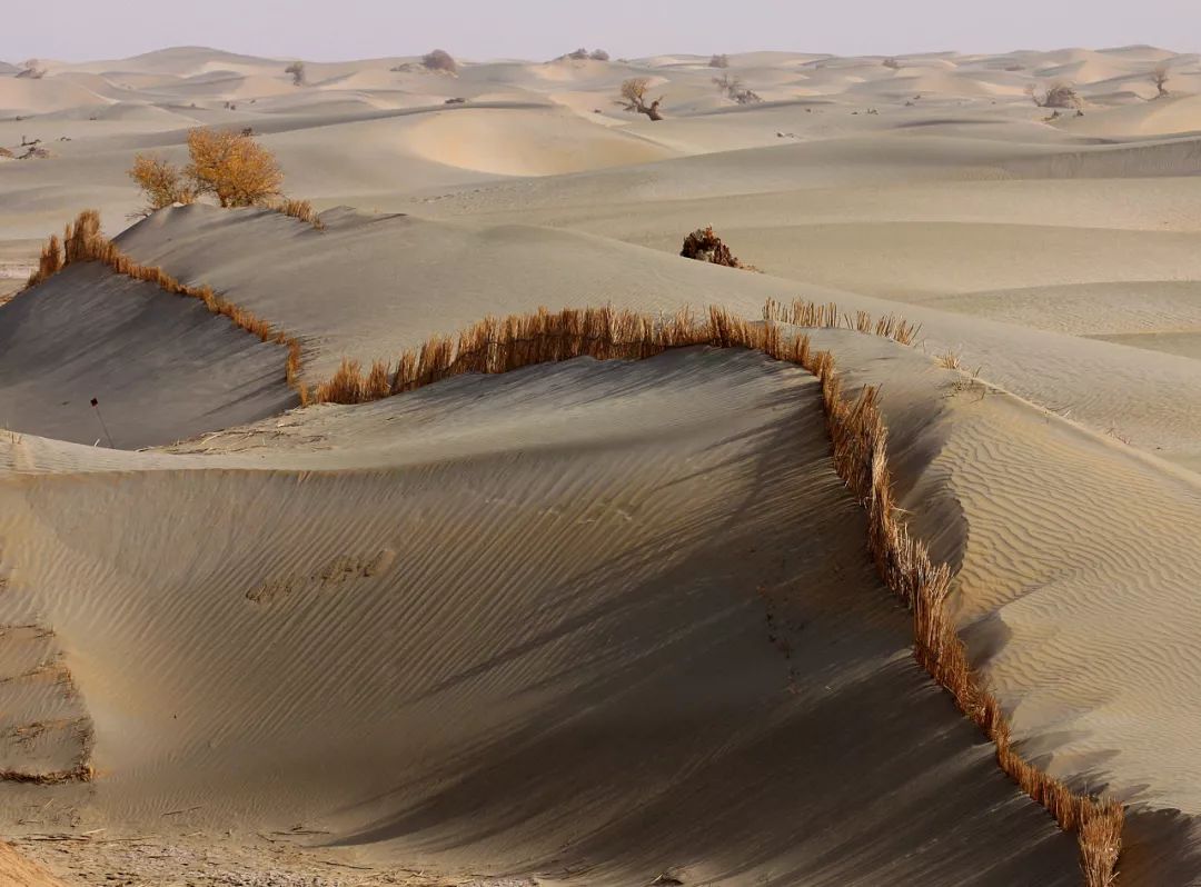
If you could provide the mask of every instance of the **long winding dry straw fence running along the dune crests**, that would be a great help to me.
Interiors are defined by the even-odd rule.
[[[62,264],[54,258],[53,238],[47,252],[49,256],[43,253],[42,268],[35,277],[42,275],[44,278],[43,271],[53,274]],[[365,374],[357,361],[343,360],[331,379],[310,391],[298,379],[300,355],[295,338],[274,332],[269,324],[225,302],[208,288],[184,287],[157,268],[132,263],[100,236],[95,212],[82,214],[76,224],[67,228],[65,262],[84,260],[100,260],[118,272],[159,283],[168,292],[203,299],[210,311],[226,314],[263,341],[287,343],[291,349],[288,382],[305,403],[362,403],[464,373],[502,373],[579,356],[641,360],[689,346],[748,348],[803,367],[820,382],[833,468],[867,513],[867,546],[876,568],[913,615],[918,663],[996,745],[998,766],[1046,808],[1064,831],[1076,833],[1087,887],[1115,883],[1122,849],[1123,808],[1112,799],[1074,792],[1065,783],[1022,757],[1014,747],[1004,712],[972,669],[948,611],[951,570],[946,564],[931,562],[925,545],[909,534],[904,513],[896,503],[888,460],[888,430],[878,407],[877,389],[864,386],[853,395],[843,392],[831,354],[813,350],[808,336],[785,335],[782,329],[782,324],[847,328],[912,344],[916,326],[894,316],[873,320],[865,312],[841,313],[833,304],[807,301],[789,306],[769,302],[763,323],[734,317],[719,307],[711,307],[699,319],[688,311],[651,317],[611,307],[560,312],[542,308],[503,319],[489,317],[454,337],[435,336],[401,354],[395,366],[376,361]]]

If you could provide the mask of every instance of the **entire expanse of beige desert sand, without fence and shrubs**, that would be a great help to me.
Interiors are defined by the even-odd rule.
[[[0,146],[49,152],[0,156],[0,768],[95,769],[0,785],[0,834],[68,883],[1081,882],[909,655],[806,373],[687,349],[294,409],[286,348],[197,300],[17,295],[95,208],[307,385],[540,305],[921,324],[813,335],[882,385],[1023,753],[1128,805],[1122,887],[1201,883],[1197,56],[289,61],[0,66]],[[1026,95],[1057,82],[1083,114]],[[251,127],[323,229],[135,224],[133,155],[196,126]],[[706,224],[761,274],[679,257]]]

